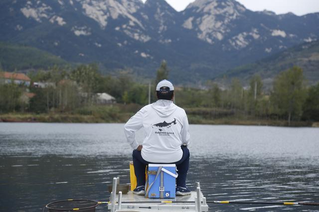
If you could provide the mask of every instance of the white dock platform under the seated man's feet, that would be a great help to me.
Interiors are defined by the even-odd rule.
[[[116,180],[114,183],[116,185]],[[108,209],[111,212],[208,212],[206,198],[200,192],[199,183],[197,185],[196,192],[191,192],[190,195],[176,196],[172,199],[146,198],[135,195],[132,191],[123,195],[111,194]],[[197,200],[197,196],[200,197],[199,200]]]

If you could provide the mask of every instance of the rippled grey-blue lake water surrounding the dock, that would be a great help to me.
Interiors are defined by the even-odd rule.
[[[108,200],[129,183],[123,124],[0,123],[0,211],[65,199]],[[319,129],[191,125],[187,186],[208,201],[319,202]],[[137,136],[143,140],[143,133]],[[315,206],[210,205],[210,211],[319,211]],[[106,211],[99,206],[97,212]]]

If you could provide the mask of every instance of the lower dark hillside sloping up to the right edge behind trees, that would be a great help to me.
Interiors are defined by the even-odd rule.
[[[303,43],[254,63],[228,70],[216,76],[214,81],[220,82],[226,76],[227,83],[234,77],[248,82],[254,74],[259,74],[264,87],[271,88],[276,75],[294,66],[302,68],[307,84],[316,84],[319,81],[319,41]]]

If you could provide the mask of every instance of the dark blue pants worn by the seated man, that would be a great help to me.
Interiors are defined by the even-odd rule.
[[[181,149],[183,151],[183,156],[181,157],[181,159],[177,162],[169,164],[176,164],[177,167],[178,177],[176,179],[176,186],[186,188],[186,175],[189,166],[189,150],[186,146],[181,146]],[[133,150],[133,164],[135,175],[137,178],[137,186],[145,185],[145,169],[146,166],[150,163],[152,162],[143,159],[141,151]]]

